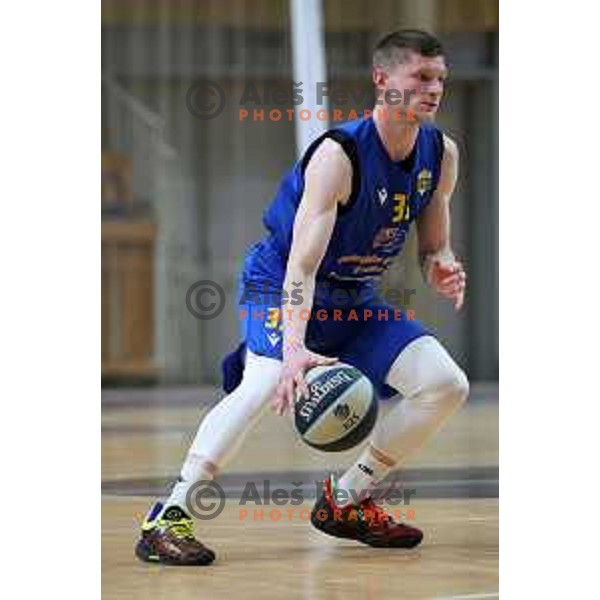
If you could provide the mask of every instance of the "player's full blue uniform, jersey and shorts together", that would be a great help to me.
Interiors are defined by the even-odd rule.
[[[250,248],[240,281],[240,308],[247,316],[241,319],[242,343],[223,362],[227,392],[241,381],[246,349],[282,360],[281,317],[270,316],[281,307],[280,292],[294,219],[304,192],[304,172],[326,138],[336,140],[352,163],[352,192],[347,205],[338,207],[332,237],[317,272],[313,310],[333,307],[334,313],[341,313],[341,320],[337,321],[335,314],[323,321],[311,318],[306,331],[307,347],[355,366],[373,382],[380,395],[388,396],[393,390],[386,377],[398,354],[416,338],[433,335],[420,321],[406,315],[400,320],[388,319],[387,314],[393,313],[394,307],[378,297],[377,284],[401,252],[411,223],[423,212],[437,187],[443,156],[442,133],[432,125],[421,125],[411,155],[394,162],[372,118],[350,121],[311,144],[283,178],[265,211],[267,235]],[[343,303],[336,299],[340,288],[346,292]],[[272,291],[273,296],[260,294],[265,289]],[[289,293],[293,297],[292,291]],[[363,312],[361,319],[350,319],[356,312],[354,307],[368,309],[372,316]]]

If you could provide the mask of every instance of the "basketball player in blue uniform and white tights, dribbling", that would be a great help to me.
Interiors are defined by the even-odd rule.
[[[283,179],[264,216],[267,234],[246,256],[240,306],[249,316],[242,345],[224,362],[229,395],[200,424],[169,498],[146,517],[136,548],[142,560],[173,565],[214,560],[214,552],[194,537],[188,490],[216,476],[270,400],[284,414],[296,388],[307,393],[306,370],[337,360],[360,369],[381,395],[400,393],[403,399],[377,423],[343,476],[325,482],[312,522],[330,535],[375,547],[412,548],[421,542],[421,531],[388,518],[369,490],[461,406],[468,383],[421,323],[375,316],[386,309],[393,314],[378,297],[377,283],[413,222],[427,283],[456,309],[463,304],[466,275],[450,247],[458,152],[433,125],[446,76],[442,47],[432,35],[405,30],[385,36],[373,54],[379,103],[372,116],[322,135]],[[300,286],[301,302],[282,307],[278,297]],[[279,296],[273,299],[265,289]],[[350,299],[344,306],[340,289]],[[334,308],[344,318],[299,318],[303,310]],[[365,308],[373,318],[345,318],[351,309],[362,315]],[[260,311],[268,318],[253,318]],[[354,498],[363,492],[357,506],[351,490]],[[342,497],[349,500],[341,502]],[[317,518],[317,511],[327,518]]]

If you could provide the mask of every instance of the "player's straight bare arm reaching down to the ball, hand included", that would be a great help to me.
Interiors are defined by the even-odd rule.
[[[308,394],[304,372],[318,364],[332,364],[335,358],[319,356],[306,349],[307,320],[315,292],[315,276],[335,225],[338,204],[352,188],[352,165],[342,147],[326,139],[310,159],[304,174],[304,194],[294,220],[292,247],[283,289],[288,297],[294,284],[302,285],[302,302],[282,307],[283,370],[275,395],[275,408],[283,414],[294,400],[295,386]],[[303,312],[308,311],[308,312]]]

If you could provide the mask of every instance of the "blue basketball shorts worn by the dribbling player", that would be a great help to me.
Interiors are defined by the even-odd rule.
[[[281,311],[286,310],[286,305],[281,307],[277,296],[260,295],[252,301],[242,297],[237,318],[243,342],[224,361],[225,391],[235,389],[241,380],[246,348],[259,356],[282,359]],[[414,310],[393,307],[377,296],[356,306],[333,308],[323,304],[313,306],[310,315],[296,317],[296,313],[294,318],[308,322],[309,350],[353,365],[372,381],[382,397],[396,393],[385,379],[398,354],[418,337],[432,335],[414,318]]]

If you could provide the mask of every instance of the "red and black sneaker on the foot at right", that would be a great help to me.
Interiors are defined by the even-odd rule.
[[[371,498],[358,506],[339,508],[335,504],[333,476],[323,485],[323,495],[311,513],[311,523],[323,533],[357,540],[374,548],[414,548],[423,532],[404,523],[396,523]]]

